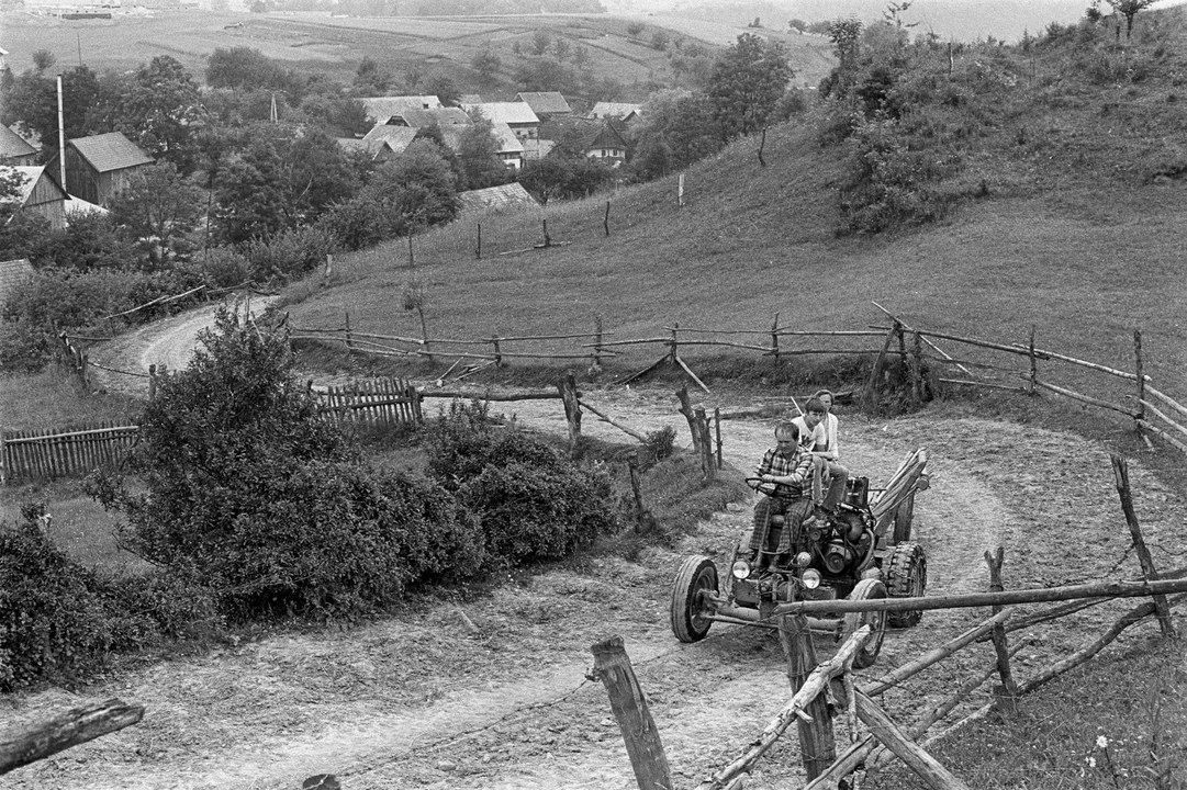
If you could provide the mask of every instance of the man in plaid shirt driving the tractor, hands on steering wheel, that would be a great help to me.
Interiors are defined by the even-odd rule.
[[[812,497],[806,490],[812,466],[812,453],[800,446],[800,429],[792,422],[781,422],[775,428],[775,446],[766,452],[757,469],[757,477],[763,483],[775,484],[775,489],[754,507],[751,562],[763,556],[761,552],[767,546],[770,528],[779,525],[780,520],[774,516],[782,516],[782,529],[772,565],[777,565],[782,555],[789,555],[798,546],[800,528],[813,516]]]

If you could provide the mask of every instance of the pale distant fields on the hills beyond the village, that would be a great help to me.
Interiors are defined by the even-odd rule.
[[[510,98],[522,88],[514,78],[518,43],[527,57],[537,31],[564,39],[571,49],[584,47],[592,74],[599,81],[622,84],[621,101],[641,101],[652,82],[673,79],[669,53],[652,44],[656,31],[669,40],[698,43],[707,52],[732,43],[743,27],[699,25],[673,30],[660,20],[627,20],[605,14],[532,14],[523,17],[330,17],[325,13],[233,14],[191,9],[158,12],[155,17],[116,17],[110,20],[61,20],[6,13],[0,45],[11,52],[15,72],[32,66],[32,53],[51,51],[62,66],[78,62],[80,52],[96,71],[125,71],[158,55],[180,60],[196,75],[216,49],[249,46],[281,63],[304,65],[350,82],[363,57],[370,57],[394,75],[439,71],[452,77],[463,93]],[[815,84],[827,72],[830,45],[819,37],[788,37],[796,74]],[[496,74],[483,76],[470,68],[471,58],[490,49],[502,60]],[[669,46],[669,50],[672,47]],[[674,53],[673,53],[674,55]]]

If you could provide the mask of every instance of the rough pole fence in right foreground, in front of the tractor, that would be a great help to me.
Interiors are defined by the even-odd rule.
[[[992,690],[992,699],[963,722],[983,718],[997,711],[1009,715],[1017,709],[1020,697],[1048,683],[1059,675],[1092,660],[1102,649],[1115,641],[1125,629],[1150,618],[1157,619],[1163,637],[1178,638],[1170,619],[1173,605],[1187,598],[1187,569],[1160,576],[1150,560],[1141,527],[1134,515],[1125,461],[1112,458],[1117,480],[1117,492],[1122,510],[1130,529],[1130,536],[1141,560],[1142,581],[1102,581],[1064,587],[1007,591],[1002,584],[1004,552],[985,552],[989,565],[989,592],[963,595],[929,598],[882,598],[869,600],[807,600],[780,604],[775,607],[772,625],[779,630],[780,643],[787,660],[787,675],[792,682],[793,696],[779,711],[745,751],[713,772],[696,786],[698,790],[738,790],[745,775],[763,758],[793,724],[799,731],[800,752],[807,783],[804,790],[837,788],[846,776],[865,766],[876,770],[897,758],[907,765],[923,786],[933,790],[966,790],[969,785],[932,757],[923,741],[927,732],[952,714],[978,688],[995,675],[999,678]],[[1168,593],[1180,593],[1167,598]],[[705,594],[710,594],[709,591]],[[1017,646],[1010,648],[1008,633],[1034,627],[1040,624],[1071,616],[1088,606],[1119,598],[1150,598],[1115,620],[1102,635],[1087,639],[1080,648],[1053,663],[1037,668],[1030,677],[1016,680],[1010,658]],[[1041,601],[1074,601],[1055,606],[1027,617],[1017,617],[1016,604]],[[853,675],[853,658],[871,636],[871,626],[863,624],[840,645],[837,654],[823,663],[817,663],[807,616],[827,613],[863,614],[867,612],[922,611],[937,609],[991,606],[992,614],[925,652],[861,687]],[[1014,618],[1011,620],[1011,618]],[[939,705],[929,706],[926,714],[913,725],[900,726],[875,703],[874,697],[906,680],[934,667],[956,652],[975,643],[991,643],[992,656],[983,670],[977,671],[957,686],[956,690]],[[660,732],[652,720],[643,693],[627,657],[622,639],[611,637],[591,646],[594,654],[592,676],[605,686],[610,708],[618,721],[627,756],[641,790],[672,790],[677,786],[664,752]],[[834,686],[836,682],[836,686]],[[931,687],[934,690],[934,686]],[[833,707],[845,709],[850,744],[838,754],[833,734]],[[859,733],[863,724],[867,733]],[[1159,759],[1159,756],[1155,756]]]

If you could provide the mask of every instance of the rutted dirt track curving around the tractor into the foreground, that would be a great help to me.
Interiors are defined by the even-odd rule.
[[[672,425],[687,442],[667,389],[592,389],[585,399],[637,429]],[[741,397],[706,403],[754,404]],[[518,404],[516,412],[525,423],[563,429],[558,402]],[[726,460],[751,466],[772,427],[725,422]],[[583,429],[620,438],[592,415]],[[842,414],[842,432],[846,464],[875,483],[912,447],[927,447],[933,485],[920,495],[915,518],[929,593],[983,590],[982,553],[998,544],[1009,587],[1103,578],[1125,554],[1107,455],[1092,442],[942,410],[890,422]],[[1181,502],[1138,461],[1131,477],[1155,561],[1170,567],[1164,549],[1178,550]],[[442,603],[348,631],[273,637],[146,667],[77,696],[57,689],[9,696],[14,722],[110,696],[142,703],[147,714],[137,727],[8,775],[5,786],[296,789],[306,776],[332,772],[348,790],[630,788],[605,694],[584,678],[589,645],[608,633],[626,641],[678,786],[694,786],[789,696],[777,642],[767,632],[715,626],[706,641],[683,645],[668,630],[668,588],[680,560],[703,553],[724,562],[748,518],[748,503],[734,505],[677,550],[649,549],[635,562],[585,558],[509,582],[464,611]],[[1121,568],[1132,578],[1137,562],[1126,556]],[[1026,678],[1130,605],[1028,632],[1017,674]],[[864,675],[876,677],[982,617],[928,612],[918,627],[889,632]],[[912,711],[946,695],[990,656],[988,645],[963,651],[883,702],[909,721]],[[795,739],[785,740],[748,788],[799,786]]]

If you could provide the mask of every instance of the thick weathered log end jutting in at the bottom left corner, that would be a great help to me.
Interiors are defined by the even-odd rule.
[[[5,733],[0,735],[0,773],[129,727],[144,714],[144,706],[112,699],[80,706],[43,724]]]

